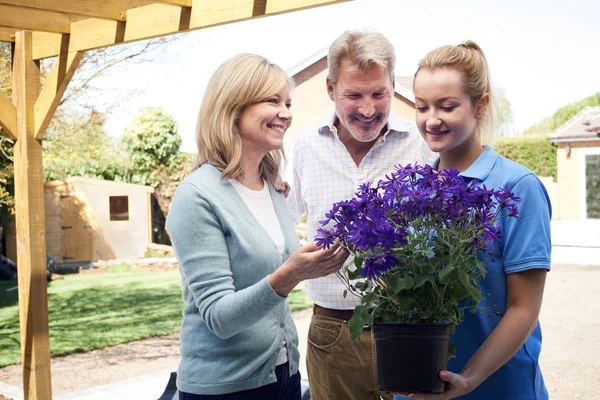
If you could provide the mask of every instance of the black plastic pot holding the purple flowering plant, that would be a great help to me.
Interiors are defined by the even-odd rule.
[[[379,389],[441,393],[451,325],[378,323],[373,326]]]

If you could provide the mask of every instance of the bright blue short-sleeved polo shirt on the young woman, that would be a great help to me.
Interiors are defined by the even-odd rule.
[[[434,166],[438,165],[434,162]],[[477,349],[496,328],[506,311],[507,275],[530,269],[550,269],[550,219],[552,209],[542,182],[516,162],[510,161],[491,147],[460,174],[467,182],[476,179],[488,189],[510,187],[515,196],[520,218],[502,218],[500,241],[489,246],[491,256],[483,257],[487,275],[480,281],[485,298],[481,306],[488,311],[465,313],[450,340],[456,345],[456,357],[448,361],[448,370],[460,372]],[[489,253],[488,253],[489,254]],[[540,324],[517,353],[481,385],[461,399],[475,400],[546,400],[548,392],[539,366],[542,346]]]

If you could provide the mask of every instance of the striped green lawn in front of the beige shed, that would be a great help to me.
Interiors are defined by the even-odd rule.
[[[0,281],[0,367],[21,361],[16,281]],[[311,307],[303,286],[288,296],[292,310]],[[177,271],[140,272],[123,265],[104,274],[65,275],[48,286],[51,356],[178,332]]]

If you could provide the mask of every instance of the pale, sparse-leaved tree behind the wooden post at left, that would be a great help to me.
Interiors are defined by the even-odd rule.
[[[96,111],[87,99],[101,90],[94,86],[97,78],[119,66],[146,62],[173,40],[172,37],[158,38],[85,52],[45,135],[44,168],[48,179],[73,175],[126,179],[125,175],[129,172],[127,165],[123,164],[114,141],[102,129],[104,115]],[[42,82],[53,62],[54,59],[50,59],[41,63]],[[12,93],[11,65],[11,44],[0,42],[0,91],[9,98]],[[103,108],[110,110],[122,101],[123,95],[130,94],[116,92],[113,101],[103,104]],[[82,137],[78,137],[78,133]],[[65,137],[61,137],[63,134]],[[0,129],[0,223],[14,211],[12,147],[13,142]],[[63,157],[70,161],[63,160]],[[71,162],[73,165],[70,165]]]

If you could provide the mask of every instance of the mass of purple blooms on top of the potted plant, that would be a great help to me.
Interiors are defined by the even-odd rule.
[[[335,203],[321,221],[327,230],[319,229],[315,239],[326,248],[338,239],[364,260],[357,267],[361,275],[375,279],[399,267],[397,254],[416,266],[446,265],[452,254],[483,254],[500,239],[498,218],[518,219],[519,201],[511,188],[467,183],[454,169],[399,165],[377,184],[360,185],[352,199]]]

